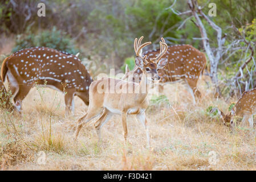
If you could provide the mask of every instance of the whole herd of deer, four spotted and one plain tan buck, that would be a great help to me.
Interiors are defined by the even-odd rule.
[[[159,84],[161,92],[164,84],[182,81],[192,95],[193,103],[196,104],[196,99],[201,97],[197,82],[204,72],[206,57],[190,45],[168,46],[163,38],[160,49],[143,52],[143,48],[151,42],[141,44],[142,40],[143,36],[134,41],[135,68],[132,71],[127,70],[121,79],[103,77],[94,81],[77,56],[52,48],[32,47],[15,52],[2,63],[1,106],[5,110],[18,111],[21,114],[22,101],[30,89],[35,85],[45,85],[65,93],[66,115],[74,111],[74,96],[78,96],[88,105],[87,113],[78,119],[74,139],[77,139],[83,124],[93,118],[97,118],[94,126],[100,139],[100,129],[103,125],[113,114],[119,114],[126,141],[127,115],[135,114],[146,131],[149,146],[145,110],[151,85]],[[125,80],[127,77],[128,80]],[[3,85],[5,80],[8,82],[11,95]],[[256,89],[253,89],[242,94],[229,114],[225,115],[221,110],[217,110],[222,121],[229,125],[232,131],[235,128],[235,115],[243,117],[242,124],[249,121],[250,127],[253,128],[255,104]]]

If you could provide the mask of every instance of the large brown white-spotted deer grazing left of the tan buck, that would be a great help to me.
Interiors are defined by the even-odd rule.
[[[92,77],[78,57],[46,47],[22,49],[6,57],[1,69],[2,81],[7,78],[16,109],[21,112],[22,100],[35,85],[44,85],[66,92],[66,114],[74,110],[74,96],[89,104]]]

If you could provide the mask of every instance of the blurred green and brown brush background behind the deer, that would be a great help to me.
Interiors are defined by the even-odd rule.
[[[37,16],[37,5],[46,5],[46,16]],[[12,52],[31,46],[46,46],[72,54],[80,52],[80,58],[86,65],[101,68],[120,69],[125,59],[134,56],[133,40],[144,36],[144,41],[153,44],[145,49],[158,48],[161,37],[171,44],[191,44],[204,52],[200,39],[200,31],[193,23],[194,18],[175,14],[170,7],[174,0],[56,0],[56,1],[0,1],[0,32],[1,37],[13,36]],[[214,23],[222,28],[226,34],[225,46],[239,40],[237,32],[245,30],[246,40],[255,43],[256,1],[214,0],[217,5],[217,16],[210,17]],[[209,1],[199,0],[208,15]],[[188,10],[186,0],[175,3],[173,9],[177,12]],[[212,47],[217,46],[216,32],[202,20]],[[182,25],[182,26],[181,26]],[[195,39],[196,38],[196,39]],[[254,46],[254,45],[253,45]],[[0,43],[4,48],[5,43]],[[219,64],[219,79],[226,84],[226,80],[233,77],[241,66],[241,57],[250,54],[246,45],[238,42],[238,49],[226,51]],[[254,47],[255,48],[255,47]],[[145,51],[145,50],[144,50]],[[5,53],[5,54],[10,54]],[[255,57],[255,56],[254,56]],[[93,66],[94,65],[94,66]],[[208,68],[209,69],[209,68]],[[254,64],[247,67],[255,73]],[[247,74],[248,76],[248,74]],[[246,81],[246,75],[245,80]],[[250,88],[255,87],[251,81]],[[222,89],[223,93],[229,90]]]

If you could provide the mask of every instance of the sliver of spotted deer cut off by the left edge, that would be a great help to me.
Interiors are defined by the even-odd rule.
[[[3,85],[2,78],[0,77],[0,107],[9,112],[14,110],[13,104],[10,101],[10,94],[6,91]]]

